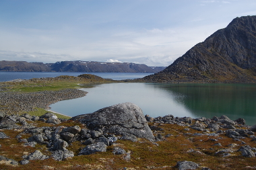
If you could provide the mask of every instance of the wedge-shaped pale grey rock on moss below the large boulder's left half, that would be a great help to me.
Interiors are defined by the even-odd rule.
[[[106,152],[106,144],[103,142],[95,142],[83,148],[78,155],[91,155],[96,152]]]

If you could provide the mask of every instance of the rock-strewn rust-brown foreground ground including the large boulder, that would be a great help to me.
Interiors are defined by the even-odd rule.
[[[40,124],[43,126],[39,126]],[[70,120],[61,120],[52,113],[38,117],[1,112],[0,129],[0,166],[9,166],[12,169],[26,169],[37,160],[41,160],[42,165],[36,165],[41,169],[47,169],[47,166],[51,169],[62,169],[51,161],[48,165],[47,160],[67,163],[67,169],[205,170],[256,167],[253,161],[256,152],[256,126],[247,126],[243,118],[234,121],[226,116],[214,116],[212,119],[174,118],[172,115],[151,118],[144,116],[137,105],[121,103],[92,114],[75,116]],[[9,144],[5,142],[7,140],[14,142]],[[170,146],[161,150],[165,144]],[[131,146],[128,147],[129,145]],[[11,154],[11,149],[15,146],[26,152],[20,152],[20,155],[16,153],[16,156],[8,155],[7,151]],[[131,162],[138,163],[141,160],[137,146],[141,152],[145,150],[150,155],[161,154],[161,157],[174,159],[176,163],[152,164],[149,161],[142,167],[136,167]],[[163,154],[172,149],[177,149],[175,154]],[[176,152],[181,156],[175,156]],[[104,154],[100,153],[113,157],[112,163],[73,163],[77,159],[87,160],[95,155],[98,160],[102,160]],[[184,160],[185,158],[187,159]],[[212,165],[205,160],[214,160],[220,165]],[[122,161],[122,165],[117,164]],[[236,161],[245,163],[238,167]]]

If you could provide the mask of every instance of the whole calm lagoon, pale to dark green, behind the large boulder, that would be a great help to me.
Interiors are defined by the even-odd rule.
[[[157,84],[109,83],[84,88],[85,97],[59,101],[51,110],[77,116],[117,103],[131,102],[153,118],[172,114],[178,117],[212,118],[226,115],[256,124],[254,84]]]

